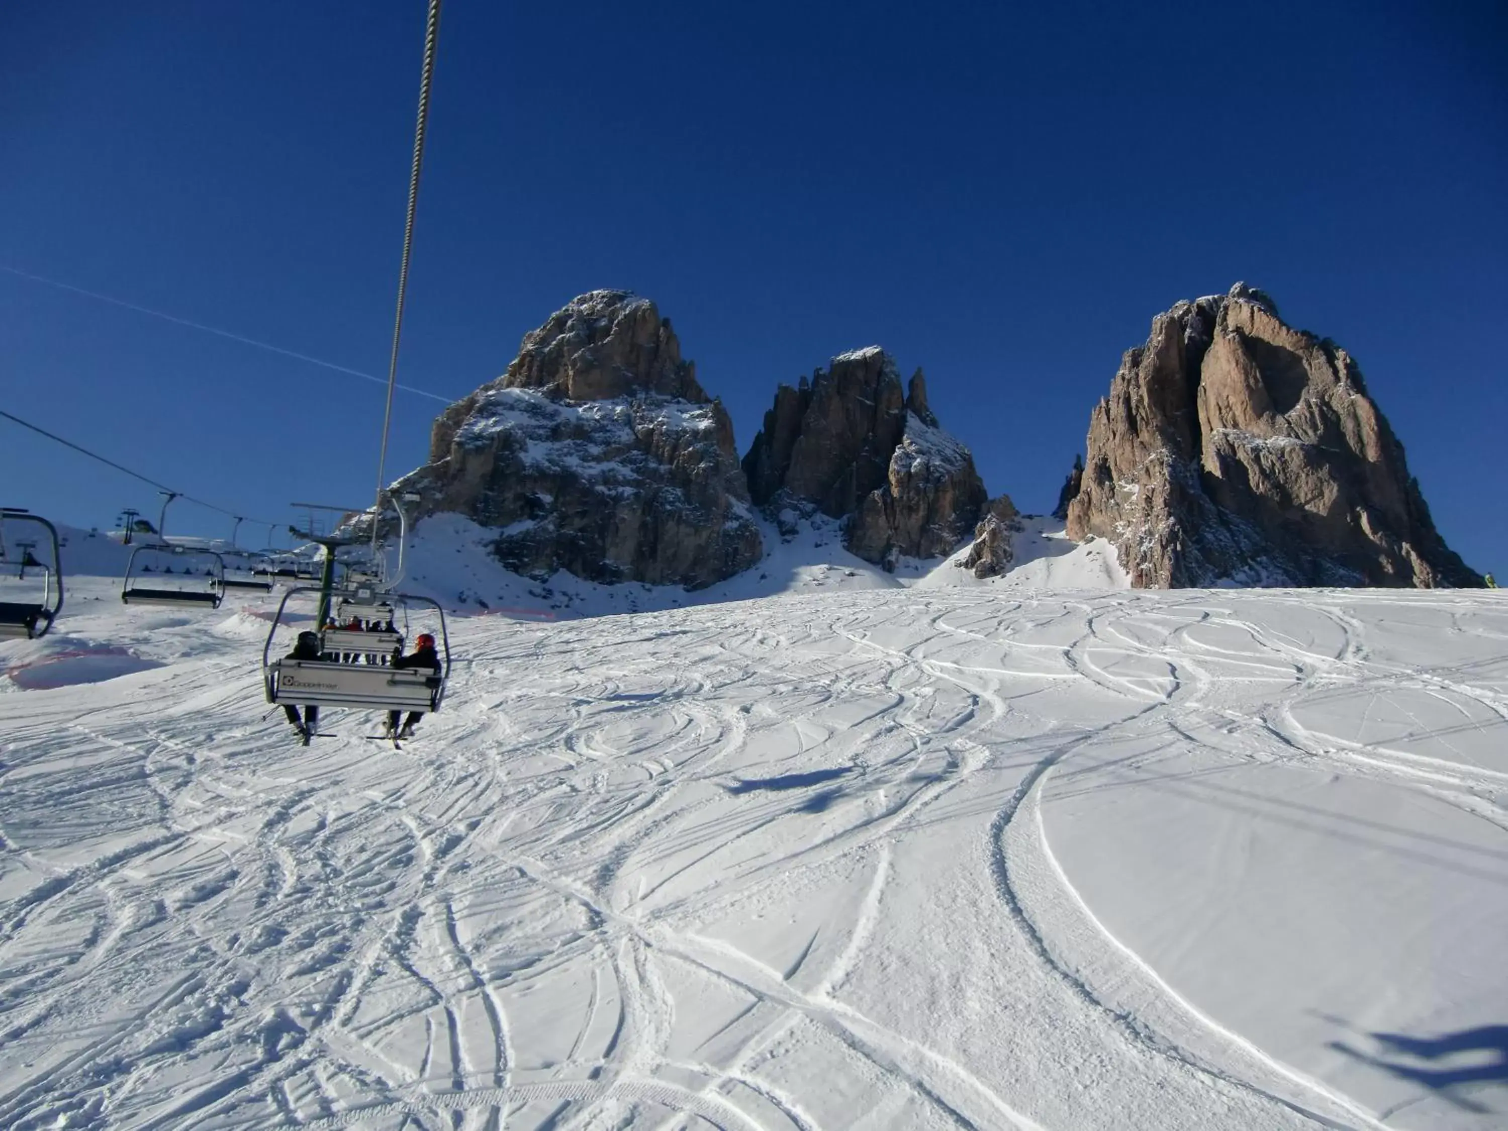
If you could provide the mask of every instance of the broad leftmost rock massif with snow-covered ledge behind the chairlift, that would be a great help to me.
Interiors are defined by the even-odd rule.
[[[406,477],[419,516],[464,514],[534,578],[700,588],[763,544],[721,401],[654,305],[593,291],[523,339],[507,374],[434,422]]]

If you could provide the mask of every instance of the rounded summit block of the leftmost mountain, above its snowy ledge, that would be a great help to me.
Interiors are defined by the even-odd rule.
[[[701,404],[695,366],[680,356],[670,318],[630,291],[588,291],[523,336],[502,388],[567,401],[659,394]]]

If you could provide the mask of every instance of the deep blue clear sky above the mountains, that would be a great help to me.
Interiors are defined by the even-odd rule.
[[[0,264],[385,372],[424,9],[0,6]],[[1446,538],[1508,572],[1502,9],[449,0],[400,380],[461,397],[632,288],[740,451],[777,382],[879,342],[1047,510],[1122,350],[1246,279],[1357,357]],[[253,516],[374,487],[377,385],[5,271],[0,406]],[[394,472],[439,407],[398,395]],[[0,481],[157,510],[5,421]]]

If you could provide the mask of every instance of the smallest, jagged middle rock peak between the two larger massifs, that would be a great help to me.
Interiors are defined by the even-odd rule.
[[[847,519],[847,549],[873,562],[952,553],[986,499],[968,448],[938,427],[921,371],[902,394],[878,345],[781,385],[743,470],[771,513]]]

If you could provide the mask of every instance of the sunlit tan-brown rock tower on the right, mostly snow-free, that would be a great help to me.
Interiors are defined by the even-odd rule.
[[[1244,284],[1160,314],[1122,357],[1068,532],[1113,541],[1137,588],[1482,584],[1356,362]]]

